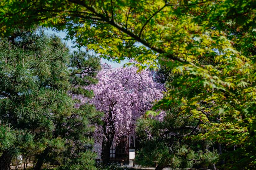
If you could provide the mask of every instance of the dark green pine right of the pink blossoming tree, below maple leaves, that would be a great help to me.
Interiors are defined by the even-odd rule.
[[[201,62],[210,62],[203,60]],[[172,82],[182,78],[182,74],[174,74],[172,68],[162,63],[160,69],[155,74],[157,81],[165,83],[167,91],[173,89]],[[179,88],[175,89],[182,93]],[[190,95],[195,95],[198,91],[192,91]],[[168,92],[165,93],[168,97]],[[165,167],[171,168],[193,168],[200,165],[207,169],[213,165],[218,158],[217,150],[209,150],[213,146],[210,140],[191,140],[191,136],[201,133],[200,125],[203,123],[193,117],[192,113],[186,113],[186,108],[182,102],[187,96],[183,96],[181,103],[173,103],[165,107],[162,119],[152,119],[144,117],[137,121],[136,134],[139,138],[141,148],[137,152],[136,161],[144,166],[154,166],[153,161],[158,161],[156,169]],[[198,103],[198,108],[206,108],[204,102]],[[214,122],[215,117],[209,117]]]

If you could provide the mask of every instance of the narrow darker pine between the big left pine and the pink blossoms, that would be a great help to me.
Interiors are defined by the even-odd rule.
[[[70,70],[71,89],[69,93],[76,100],[74,112],[63,119],[65,126],[61,127],[59,134],[66,138],[66,150],[62,153],[64,166],[60,169],[95,169],[94,158],[96,154],[91,152],[94,146],[92,138],[94,125],[101,122],[103,114],[81,98],[94,96],[92,90],[85,87],[98,83],[96,73],[100,70],[98,57],[87,52],[75,51],[68,63]]]

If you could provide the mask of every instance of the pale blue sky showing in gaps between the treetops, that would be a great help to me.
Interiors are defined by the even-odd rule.
[[[66,36],[66,33],[65,32],[55,32],[55,31],[53,31],[53,30],[51,30],[51,29],[48,29],[48,30],[45,30],[45,32],[46,33],[51,33],[51,34],[57,34],[58,36],[60,36],[62,39],[63,39],[63,41],[65,41],[64,40],[64,38],[65,38],[65,36]],[[71,48],[71,46],[72,45],[74,45],[74,44],[72,44],[72,42],[71,42],[71,40],[67,40],[67,41],[65,41],[66,42],[66,44],[67,44],[67,46],[70,48],[70,50],[71,51],[73,51],[73,50],[77,50],[77,48]],[[92,52],[93,53],[93,52]],[[110,64],[112,67],[114,67],[114,68],[116,68],[116,67],[122,67],[125,63],[127,63],[128,61],[122,61],[121,63],[116,63],[116,62],[109,62],[109,61],[107,61],[107,60],[105,60],[105,59],[102,59],[102,63],[107,63],[107,64]]]

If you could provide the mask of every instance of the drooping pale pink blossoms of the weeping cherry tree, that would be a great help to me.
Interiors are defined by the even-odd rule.
[[[154,81],[150,70],[137,72],[136,67],[111,68],[107,64],[98,73],[98,84],[86,88],[94,91],[89,102],[104,113],[107,125],[104,130],[99,126],[95,131],[95,142],[101,143],[114,130],[113,144],[122,136],[135,133],[136,120],[162,99],[164,91],[163,84]]]

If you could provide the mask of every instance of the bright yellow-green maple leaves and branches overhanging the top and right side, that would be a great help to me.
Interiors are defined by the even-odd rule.
[[[0,29],[40,23],[66,30],[102,57],[134,58],[140,70],[167,63],[184,75],[172,85],[187,90],[170,90],[155,108],[183,105],[181,112],[207,130],[195,140],[240,146],[232,167],[255,168],[255,6],[254,0],[13,0],[1,2]],[[201,101],[213,107],[199,109]],[[211,123],[210,114],[220,121]]]

